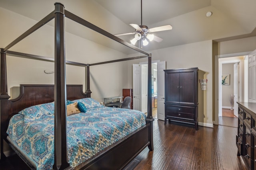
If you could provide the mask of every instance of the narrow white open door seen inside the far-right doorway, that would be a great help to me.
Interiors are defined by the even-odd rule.
[[[234,64],[234,115],[238,117],[238,104],[239,101],[239,63]]]

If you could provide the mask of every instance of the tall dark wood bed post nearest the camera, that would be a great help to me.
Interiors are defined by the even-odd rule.
[[[54,170],[72,170],[67,154],[64,6],[55,3]]]

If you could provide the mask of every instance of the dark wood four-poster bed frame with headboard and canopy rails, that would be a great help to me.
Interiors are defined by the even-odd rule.
[[[71,170],[71,169],[122,169],[130,161],[132,161],[143,149],[146,147],[152,151],[153,148],[153,127],[154,121],[152,117],[152,103],[151,103],[151,54],[142,51],[141,49],[119,39],[118,37],[100,29],[99,27],[89,23],[78,16],[64,10],[64,6],[60,3],[55,3],[55,10],[41,21],[36,23],[33,27],[28,29],[20,37],[15,39],[6,48],[1,49],[0,54],[0,114],[1,114],[1,159],[5,158],[3,152],[4,141],[6,141],[12,148],[14,148],[7,140],[6,133],[10,118],[22,109],[47,103],[55,102],[55,135],[54,135],[54,170]],[[113,61],[106,61],[94,64],[83,64],[66,61],[65,59],[65,43],[64,43],[64,18],[69,18],[80,23],[114,41],[117,41],[135,51],[138,51],[144,56],[131,57],[127,59],[118,59]],[[55,19],[55,58],[42,57],[31,54],[18,53],[8,51],[10,47],[36,31],[38,28],[45,25],[48,21]],[[57,38],[58,37],[58,38]],[[55,79],[54,85],[20,85],[20,95],[18,98],[9,100],[8,86],[7,86],[7,71],[6,71],[6,54],[17,57],[26,57],[30,59],[51,61],[55,63]],[[72,168],[68,163],[67,157],[67,132],[66,132],[66,100],[74,100],[79,98],[86,98],[91,96],[90,91],[90,74],[89,68],[93,65],[113,63],[118,61],[127,61],[132,59],[140,59],[148,57],[148,115],[146,118],[146,125],[134,131],[132,134],[124,137],[114,145],[98,153],[94,157]],[[82,85],[66,85],[66,64],[77,66],[84,66],[87,69],[87,84],[86,92],[83,92]],[[15,149],[14,149],[15,150]],[[22,154],[18,155],[25,161],[26,158]],[[35,169],[27,162],[31,169]]]

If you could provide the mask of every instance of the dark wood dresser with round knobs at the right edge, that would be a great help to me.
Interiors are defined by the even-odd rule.
[[[242,156],[248,169],[256,170],[256,103],[237,103],[237,156]]]

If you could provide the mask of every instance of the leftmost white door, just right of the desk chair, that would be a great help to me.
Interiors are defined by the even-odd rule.
[[[140,110],[140,65],[132,64],[133,109]]]

